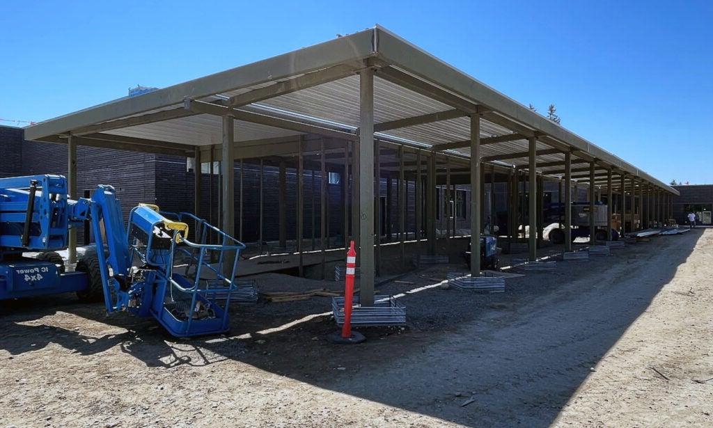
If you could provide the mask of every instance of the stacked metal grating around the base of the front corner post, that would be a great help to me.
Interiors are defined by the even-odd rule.
[[[406,324],[406,306],[393,296],[374,296],[374,306],[363,307],[359,296],[352,301],[352,325],[379,326]],[[332,315],[337,325],[344,324],[344,297],[332,298]]]

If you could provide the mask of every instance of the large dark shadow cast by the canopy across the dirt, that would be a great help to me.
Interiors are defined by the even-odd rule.
[[[499,295],[438,288],[409,295],[409,327],[363,329],[368,340],[353,347],[324,340],[337,330],[329,315],[309,318],[327,310],[326,298],[237,306],[230,337],[176,340],[153,320],[107,317],[101,306],[68,297],[4,303],[0,348],[19,355],[56,343],[94,355],[118,345],[148,367],[165,368],[236,360],[470,427],[546,427],[702,233],[660,237],[585,264],[560,263],[555,273],[508,280],[508,292]],[[59,311],[125,331],[88,337],[31,323]],[[469,397],[475,401],[461,407]]]

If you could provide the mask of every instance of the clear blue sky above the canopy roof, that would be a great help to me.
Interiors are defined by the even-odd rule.
[[[14,1],[0,118],[45,120],[381,24],[644,169],[713,183],[713,1]],[[10,122],[0,124],[11,125]]]

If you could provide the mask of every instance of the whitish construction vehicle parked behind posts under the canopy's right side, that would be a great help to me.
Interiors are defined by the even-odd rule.
[[[571,238],[574,241],[577,238],[589,238],[592,234],[590,231],[590,204],[589,202],[573,202],[572,204],[572,231]],[[595,239],[597,241],[607,241],[607,205],[602,202],[595,202],[594,205],[594,224],[595,224]],[[612,241],[619,240],[619,216],[612,215]],[[564,244],[565,231],[564,229],[553,229],[549,234],[550,242],[553,244]]]

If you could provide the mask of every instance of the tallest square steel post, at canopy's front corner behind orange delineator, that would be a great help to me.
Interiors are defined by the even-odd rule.
[[[359,73],[359,254],[361,306],[374,306],[374,70]]]

